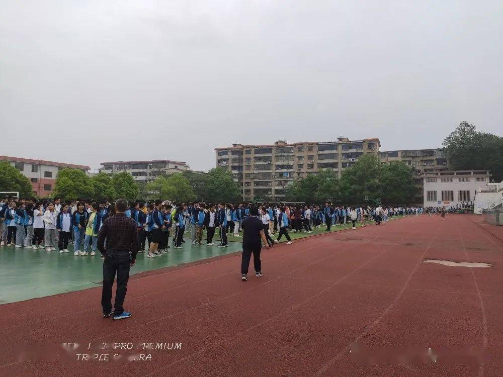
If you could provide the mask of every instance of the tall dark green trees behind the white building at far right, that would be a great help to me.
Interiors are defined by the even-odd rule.
[[[503,137],[477,131],[474,125],[461,122],[443,145],[452,169],[488,169],[495,180],[503,179]]]

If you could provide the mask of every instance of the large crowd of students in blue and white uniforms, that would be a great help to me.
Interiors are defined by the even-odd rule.
[[[68,253],[68,244],[73,243],[75,256],[96,255],[98,232],[105,219],[114,216],[114,206],[108,201],[62,203],[57,198],[4,198],[0,205],[0,245],[56,251],[57,243],[60,253]],[[419,216],[424,212],[421,207],[334,206],[328,202],[321,206],[264,203],[258,207],[270,246],[283,236],[291,244],[289,231],[312,233],[313,228],[321,226],[329,231],[332,226],[349,222],[356,229],[357,222],[364,227],[368,221],[380,225],[393,216]],[[126,216],[137,225],[140,252],[148,244],[147,257],[153,258],[169,252],[170,235],[176,249],[183,248],[186,233],[190,233],[193,244],[202,245],[204,230],[207,245],[215,245],[213,238],[218,230],[218,247],[228,247],[227,235],[240,236],[240,225],[250,216],[249,210],[249,203],[135,201],[129,204]]]

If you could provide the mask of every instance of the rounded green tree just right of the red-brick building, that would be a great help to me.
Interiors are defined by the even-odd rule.
[[[94,187],[85,172],[78,169],[64,168],[58,171],[54,184],[53,198],[91,199],[94,198]]]

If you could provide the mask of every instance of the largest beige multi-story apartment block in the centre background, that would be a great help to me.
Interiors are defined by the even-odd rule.
[[[276,141],[268,145],[233,144],[229,148],[215,148],[217,166],[232,172],[239,182],[243,200],[270,198],[281,200],[288,185],[295,179],[329,168],[338,176],[353,165],[364,153],[379,153],[379,139],[287,143]]]

